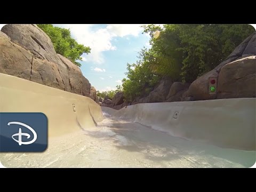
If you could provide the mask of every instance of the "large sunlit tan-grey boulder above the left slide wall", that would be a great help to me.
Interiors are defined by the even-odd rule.
[[[0,49],[0,73],[90,97],[91,84],[79,67],[57,54],[36,25],[5,25]]]

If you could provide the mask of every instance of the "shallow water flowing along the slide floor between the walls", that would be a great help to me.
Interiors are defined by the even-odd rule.
[[[50,138],[44,153],[1,153],[6,167],[250,167],[255,151],[173,137],[104,113],[97,127]]]

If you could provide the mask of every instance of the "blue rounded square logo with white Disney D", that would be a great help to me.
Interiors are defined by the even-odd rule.
[[[42,152],[47,148],[43,113],[0,113],[1,152]]]

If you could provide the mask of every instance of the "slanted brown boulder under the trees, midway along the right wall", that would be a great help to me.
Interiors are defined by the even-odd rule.
[[[151,91],[148,95],[147,102],[163,102],[169,93],[172,81],[169,79],[162,79],[156,89]]]

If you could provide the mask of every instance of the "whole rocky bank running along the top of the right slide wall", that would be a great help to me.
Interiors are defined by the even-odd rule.
[[[121,93],[115,95],[113,101],[102,103],[102,106],[121,109],[126,105],[147,102],[196,101],[225,98],[255,97],[256,68],[256,33],[247,37],[217,67],[193,83],[172,82],[162,79],[146,97],[138,97],[131,103],[121,103]],[[209,93],[209,77],[217,78],[217,93]],[[117,102],[118,101],[118,102]],[[118,105],[115,105],[118,103]]]

